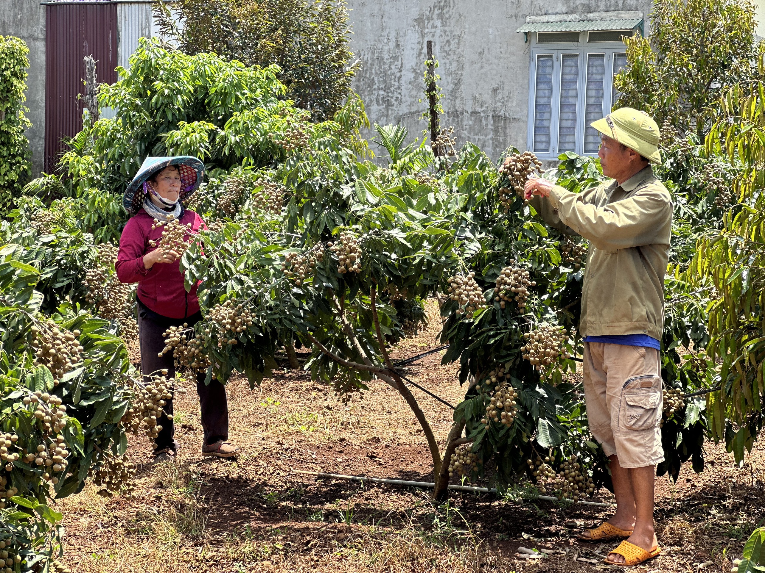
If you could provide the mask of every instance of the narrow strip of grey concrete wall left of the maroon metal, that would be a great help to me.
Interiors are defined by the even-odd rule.
[[[33,176],[43,167],[45,142],[45,7],[40,0],[0,0],[0,35],[20,37],[29,47],[27,131],[32,149]]]

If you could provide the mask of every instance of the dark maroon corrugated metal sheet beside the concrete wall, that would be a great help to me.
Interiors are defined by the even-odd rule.
[[[45,15],[45,160],[55,170],[71,138],[83,126],[85,67],[96,60],[99,83],[117,81],[117,3],[50,2]]]

